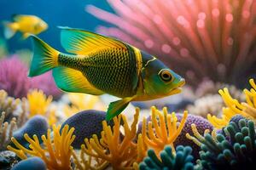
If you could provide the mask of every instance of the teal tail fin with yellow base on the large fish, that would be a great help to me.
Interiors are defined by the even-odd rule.
[[[38,37],[32,36],[34,54],[29,71],[29,77],[35,77],[49,71],[58,65],[60,52],[51,48],[46,42]]]

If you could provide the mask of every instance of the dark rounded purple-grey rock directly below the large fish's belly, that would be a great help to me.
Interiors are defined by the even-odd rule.
[[[61,129],[67,124],[69,127],[74,127],[73,134],[76,138],[73,141],[72,146],[75,149],[80,149],[81,144],[84,144],[84,139],[90,139],[93,134],[101,137],[102,121],[106,118],[105,111],[87,110],[81,111],[63,122]],[[108,122],[110,126],[113,126],[113,121]]]

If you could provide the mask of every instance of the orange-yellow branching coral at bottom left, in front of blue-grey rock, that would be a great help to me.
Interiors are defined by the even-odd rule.
[[[15,138],[11,140],[18,149],[10,145],[7,148],[14,151],[21,159],[26,159],[26,154],[41,157],[49,170],[70,170],[70,157],[73,152],[71,144],[75,136],[73,135],[74,128],[68,129],[68,125],[65,125],[62,130],[61,125],[58,127],[54,125],[53,139],[51,138],[50,129],[48,129],[47,136],[42,135],[41,137],[44,142],[44,147],[40,145],[37,135],[33,135],[33,137],[30,138],[28,134],[24,134],[24,138],[30,144],[30,149],[26,149]]]

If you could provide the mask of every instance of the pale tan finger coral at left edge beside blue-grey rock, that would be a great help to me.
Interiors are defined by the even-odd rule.
[[[13,131],[15,130],[16,119],[12,118],[11,122],[4,122],[5,112],[2,112],[0,117],[0,150],[6,150],[9,144]]]

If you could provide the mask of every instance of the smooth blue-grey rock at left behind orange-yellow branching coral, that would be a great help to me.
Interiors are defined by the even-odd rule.
[[[15,131],[14,137],[20,144],[22,144],[25,147],[28,147],[29,143],[24,138],[24,134],[27,133],[30,138],[32,138],[34,134],[36,134],[38,137],[41,137],[43,134],[47,133],[48,127],[48,122],[44,116],[33,116],[22,127],[20,127],[20,129]],[[38,139],[41,143],[42,139]]]

